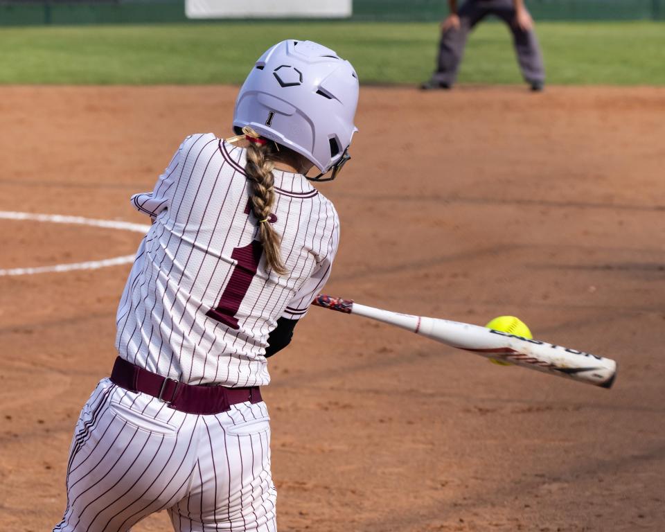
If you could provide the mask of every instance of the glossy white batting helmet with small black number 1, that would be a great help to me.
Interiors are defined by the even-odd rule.
[[[357,103],[350,62],[316,42],[290,39],[258,58],[240,88],[233,126],[248,125],[325,173],[348,159]]]

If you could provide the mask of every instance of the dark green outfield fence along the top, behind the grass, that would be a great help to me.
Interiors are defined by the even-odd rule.
[[[538,20],[662,20],[665,0],[527,0]],[[352,20],[434,21],[445,0],[354,0]],[[184,0],[0,0],[0,26],[187,21]]]

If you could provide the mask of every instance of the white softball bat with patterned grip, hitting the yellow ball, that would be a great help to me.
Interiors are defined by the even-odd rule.
[[[354,303],[319,294],[314,305],[357,314],[415,332],[447,346],[470,351],[488,358],[511,362],[515,366],[559,375],[578,382],[610,388],[617,376],[617,362],[549,342],[512,335],[509,332],[448,321],[447,319],[399,314],[390,310]]]

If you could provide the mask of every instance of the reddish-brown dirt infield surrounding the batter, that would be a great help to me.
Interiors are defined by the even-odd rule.
[[[0,211],[146,223],[181,139],[233,87],[0,89]],[[320,190],[326,292],[619,362],[610,391],[312,309],[265,398],[281,531],[665,530],[665,89],[364,89]],[[138,233],[0,220],[0,268],[132,254]],[[128,265],[0,276],[0,530],[50,529],[78,412],[114,359]],[[332,334],[331,334],[332,332]],[[166,531],[155,515],[136,531]]]

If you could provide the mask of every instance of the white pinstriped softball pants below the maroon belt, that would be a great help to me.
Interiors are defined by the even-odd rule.
[[[53,531],[127,531],[166,508],[178,532],[274,532],[275,503],[264,402],[184,414],[104,379],[76,425]]]

